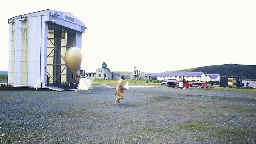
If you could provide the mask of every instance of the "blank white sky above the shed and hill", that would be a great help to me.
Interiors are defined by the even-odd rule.
[[[73,3],[72,3],[73,2]],[[8,70],[8,19],[53,9],[88,28],[82,67],[95,72],[175,71],[227,63],[256,65],[256,1],[17,1],[1,4],[0,70]]]

